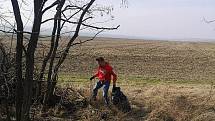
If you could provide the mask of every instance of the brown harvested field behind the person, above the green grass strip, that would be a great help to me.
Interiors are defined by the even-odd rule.
[[[122,76],[164,81],[213,81],[215,43],[100,38],[71,49],[62,71],[91,74],[104,56]]]

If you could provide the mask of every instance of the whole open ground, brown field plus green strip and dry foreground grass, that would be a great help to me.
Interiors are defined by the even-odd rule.
[[[38,47],[44,45],[48,41]],[[38,50],[38,57],[47,53],[47,48]],[[94,83],[89,77],[98,56],[104,56],[118,73],[117,85],[128,96],[132,111],[105,109],[99,100],[99,108],[53,120],[100,121],[99,114],[106,112],[110,121],[215,121],[215,43],[98,38],[71,48],[58,86],[73,86],[89,97]]]

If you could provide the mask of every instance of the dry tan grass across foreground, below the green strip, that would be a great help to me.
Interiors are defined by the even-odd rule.
[[[69,84],[63,87],[71,86]],[[73,85],[74,86],[74,85]],[[75,86],[85,97],[90,96],[89,87]],[[113,105],[104,106],[100,97],[87,108],[81,108],[69,117],[53,116],[57,120],[83,121],[214,121],[215,87],[211,85],[157,84],[144,87],[122,86],[128,96],[132,110],[129,113],[119,111]],[[105,116],[103,119],[102,117]]]

